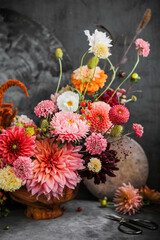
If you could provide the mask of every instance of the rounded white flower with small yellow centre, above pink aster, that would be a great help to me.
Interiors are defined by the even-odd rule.
[[[79,106],[79,95],[72,91],[64,92],[57,98],[57,105],[61,111],[76,112]]]

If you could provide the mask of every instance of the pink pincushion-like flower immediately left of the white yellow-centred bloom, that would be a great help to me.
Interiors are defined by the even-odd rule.
[[[38,117],[47,117],[49,114],[54,114],[58,111],[57,106],[51,100],[44,100],[38,103],[34,108],[34,113]]]

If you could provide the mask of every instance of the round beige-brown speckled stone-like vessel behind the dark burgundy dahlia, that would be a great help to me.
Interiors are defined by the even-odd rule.
[[[115,171],[116,177],[107,176],[107,181],[99,185],[94,180],[85,179],[85,185],[89,191],[98,198],[107,196],[113,198],[115,190],[122,183],[131,183],[134,187],[144,186],[148,177],[148,160],[142,147],[132,138],[124,137],[111,145],[111,149],[117,151],[120,159]]]

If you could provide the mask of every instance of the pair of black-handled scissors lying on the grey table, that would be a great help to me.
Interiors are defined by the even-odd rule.
[[[136,226],[144,227],[150,230],[156,230],[158,224],[149,220],[123,218],[114,214],[105,215],[106,218],[119,222],[118,230],[131,235],[142,234],[142,230]],[[134,226],[136,225],[136,226]],[[127,230],[130,229],[130,230]]]

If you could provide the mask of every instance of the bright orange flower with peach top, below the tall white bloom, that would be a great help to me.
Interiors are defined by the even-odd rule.
[[[90,71],[91,71],[91,74],[90,74]],[[87,94],[88,95],[94,94],[96,91],[99,90],[99,88],[103,88],[103,86],[106,82],[106,79],[107,79],[107,75],[104,73],[103,70],[100,69],[100,67],[96,67],[94,77],[93,77],[93,72],[94,72],[94,69],[89,70],[87,65],[82,66],[82,77],[83,77],[83,80],[86,80],[86,82],[84,82],[84,84],[82,84],[80,68],[76,69],[72,73],[71,82],[73,83],[73,85],[75,86],[76,89],[84,92],[87,87],[88,81],[90,81],[90,85],[88,87]],[[91,82],[92,77],[93,77],[93,81]]]

